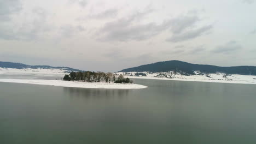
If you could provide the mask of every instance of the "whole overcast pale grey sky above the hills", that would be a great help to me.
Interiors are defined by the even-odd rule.
[[[0,61],[118,71],[256,66],[256,0],[0,0]]]

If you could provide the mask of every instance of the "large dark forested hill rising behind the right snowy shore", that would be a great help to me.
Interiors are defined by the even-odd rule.
[[[238,67],[218,67],[214,65],[192,64],[182,61],[166,61],[152,64],[141,65],[129,69],[123,69],[120,72],[131,71],[149,71],[153,73],[177,71],[184,74],[194,74],[194,71],[201,73],[225,73],[225,74],[240,74],[240,75],[256,75],[256,67],[254,66],[238,66]]]

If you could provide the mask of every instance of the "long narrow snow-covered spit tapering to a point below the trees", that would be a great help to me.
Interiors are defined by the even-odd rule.
[[[26,80],[26,79],[0,79],[0,82],[27,83],[35,85],[48,85],[60,87],[77,87],[77,88],[104,88],[104,89],[141,89],[147,86],[133,83],[106,83],[106,82],[79,82],[79,81],[62,81],[62,80]]]

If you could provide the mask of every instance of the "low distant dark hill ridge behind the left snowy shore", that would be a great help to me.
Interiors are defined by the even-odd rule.
[[[51,67],[49,65],[27,65],[27,64],[22,64],[22,63],[13,63],[13,62],[0,62],[0,68],[14,68],[14,69],[41,68],[41,69],[64,69],[67,71],[82,71],[79,69],[73,69],[73,68],[69,68],[69,67]]]

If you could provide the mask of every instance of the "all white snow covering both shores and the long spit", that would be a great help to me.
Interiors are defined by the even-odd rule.
[[[181,74],[167,74],[162,75],[161,73],[144,73],[147,76],[135,76],[137,72],[132,71],[128,73],[115,73],[117,75],[123,74],[125,77],[131,79],[154,79],[154,80],[174,80],[174,81],[201,81],[201,82],[219,82],[219,83],[243,83],[243,84],[256,84],[256,76],[254,75],[226,75],[223,73],[217,74],[203,74],[200,71],[195,71],[195,75],[181,75]],[[18,83],[31,83],[38,85],[54,85],[63,87],[84,87],[84,88],[120,88],[120,89],[131,89],[131,88],[145,88],[145,86],[136,84],[118,84],[118,83],[88,83],[88,82],[68,82],[61,80],[38,80],[46,79],[49,76],[50,79],[56,77],[63,77],[66,73],[64,69],[11,69],[11,68],[0,68],[0,81],[2,82],[18,82]],[[16,76],[19,75],[19,76]],[[207,77],[208,76],[208,77]],[[1,77],[3,79],[1,79]],[[16,77],[17,79],[14,79]],[[10,79],[8,79],[10,78]],[[23,79],[23,80],[21,80]],[[30,79],[30,80],[28,80]],[[36,80],[31,80],[36,79]]]

